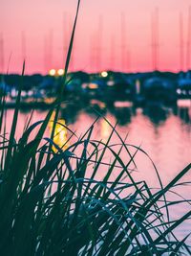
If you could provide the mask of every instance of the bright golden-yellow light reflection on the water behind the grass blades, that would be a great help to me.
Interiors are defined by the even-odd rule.
[[[54,113],[53,113],[54,116]],[[53,131],[53,117],[49,123],[50,132]],[[53,142],[63,151],[67,150],[68,143],[67,142],[67,128],[66,122],[64,119],[59,119],[55,125],[55,130],[53,134]],[[53,151],[57,151],[55,147],[53,147]]]

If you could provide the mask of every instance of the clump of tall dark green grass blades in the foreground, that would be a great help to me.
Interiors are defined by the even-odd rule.
[[[67,82],[73,40],[74,31],[63,86]],[[59,97],[45,120],[32,125],[29,122],[22,137],[16,140],[21,88],[22,77],[10,138],[1,127],[1,255],[191,254],[186,244],[189,234],[179,241],[174,233],[183,221],[190,218],[191,212],[177,221],[171,221],[169,217],[171,205],[186,200],[166,199],[166,195],[180,185],[180,179],[190,171],[191,165],[165,187],[160,182],[160,189],[153,191],[145,181],[135,181],[130,169],[132,164],[136,164],[138,151],[145,152],[126,144],[116,127],[111,126],[112,132],[106,142],[92,139],[95,124],[80,138],[70,130],[71,138],[75,136],[76,139],[64,150],[68,142],[62,146],[53,142],[62,101]],[[63,88],[60,92],[62,95]],[[4,96],[0,103],[2,122],[5,117]],[[44,133],[54,108],[52,135],[46,138]],[[59,125],[66,128],[64,124]],[[30,135],[34,129],[37,132],[32,139]],[[120,145],[111,144],[114,133]],[[116,146],[118,150],[115,150]],[[133,155],[130,147],[135,149]],[[125,162],[120,156],[121,151],[126,152]],[[111,162],[106,161],[105,155],[108,154],[113,159]],[[114,178],[115,172],[118,175]]]

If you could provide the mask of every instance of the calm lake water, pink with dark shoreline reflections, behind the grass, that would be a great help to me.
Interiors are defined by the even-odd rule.
[[[119,105],[106,110],[102,109],[102,105],[99,103],[94,107],[101,111],[112,125],[115,126],[117,123],[117,131],[123,139],[128,134],[126,140],[128,144],[140,146],[142,150],[148,153],[156,164],[164,185],[191,162],[191,101],[181,101],[175,108],[150,107],[142,109]],[[7,131],[10,129],[12,113],[13,110],[8,109]],[[35,110],[32,123],[42,120],[46,113],[47,110]],[[22,133],[29,114],[30,111],[21,111],[17,138]],[[67,126],[78,136],[93,124],[96,117],[97,114],[94,109],[90,107],[82,108],[79,105],[63,109],[60,115],[60,118],[63,118]],[[93,137],[97,140],[106,141],[110,132],[110,126],[103,118],[99,118],[95,125]],[[46,135],[49,135],[48,133],[49,131]],[[116,143],[115,136],[113,143]],[[130,149],[130,151],[133,152],[135,149]],[[121,157],[125,159],[127,156],[122,155]],[[137,172],[134,174],[135,179],[145,179],[150,187],[159,188],[159,180],[150,159],[144,153],[138,152],[135,160],[137,164]],[[190,181],[190,177],[191,174],[189,173],[184,177],[184,180]],[[190,186],[178,187],[177,191],[182,197],[190,199]],[[178,206],[173,213],[173,218],[179,219],[190,208],[188,204],[183,207]],[[190,226],[191,222],[187,221],[178,231],[179,236],[183,237],[188,233]],[[191,240],[189,241],[191,242]]]

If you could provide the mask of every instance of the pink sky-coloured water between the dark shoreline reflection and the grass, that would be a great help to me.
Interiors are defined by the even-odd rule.
[[[187,102],[187,101],[186,101]],[[186,107],[181,106],[181,104],[186,103],[183,101],[178,101],[178,108],[184,111]],[[187,102],[188,103],[188,102]],[[187,107],[187,109],[191,109],[191,106]],[[176,109],[177,110],[177,109]],[[187,110],[186,110],[187,111]],[[26,123],[26,117],[30,112],[21,112],[18,117],[18,128],[16,131],[16,138],[20,138],[22,136],[22,128]],[[34,110],[32,116],[32,122],[37,122],[38,120],[42,120],[45,118],[47,114],[46,111],[42,110]],[[11,122],[13,116],[13,109],[7,110],[7,118],[6,120],[6,132],[11,131]],[[110,123],[115,126],[117,122],[117,118],[114,114],[107,112],[104,115]],[[53,120],[53,119],[52,119]],[[74,124],[71,125],[73,130],[76,130],[76,134],[81,136],[86,132],[88,128],[92,126],[95,121],[95,116],[90,115],[82,110],[78,113],[77,119]],[[62,122],[60,122],[62,123]],[[64,123],[62,123],[64,124]],[[53,125],[50,124],[51,126]],[[100,118],[95,125],[95,133],[93,133],[92,139],[101,140],[107,139],[111,133],[112,128],[109,128],[109,125]],[[47,132],[50,130],[46,130],[45,136],[48,137],[49,134]],[[152,122],[150,117],[143,113],[142,108],[137,108],[136,113],[131,118],[131,122],[126,124],[125,126],[117,126],[117,131],[122,138],[125,137],[127,132],[129,132],[127,143],[133,144],[136,146],[141,146],[141,149],[146,151],[149,156],[153,159],[156,164],[159,175],[162,179],[163,185],[165,186],[168,182],[170,182],[175,175],[177,175],[188,163],[190,163],[190,145],[191,145],[191,136],[190,136],[190,125],[188,122],[185,122],[184,119],[177,115],[177,112],[174,114],[167,115],[166,120],[163,122],[159,122],[155,124]],[[115,135],[115,134],[114,134]],[[65,136],[66,137],[66,136]],[[69,137],[69,132],[68,132]],[[112,137],[111,144],[116,144],[117,139],[116,136]],[[62,143],[63,145],[64,143]],[[117,148],[115,148],[116,151]],[[133,148],[129,148],[131,153]],[[106,160],[110,162],[110,152],[107,151],[105,155]],[[121,151],[120,157],[123,161],[128,161],[128,155],[125,151]],[[105,159],[104,159],[105,161]],[[149,187],[159,187],[159,181],[156,176],[156,173],[153,169],[153,166],[150,160],[140,151],[136,154],[135,158],[136,164],[138,166],[138,172],[134,172],[133,175],[136,180],[146,180]],[[134,168],[134,166],[133,166]],[[88,175],[92,175],[90,172]],[[98,173],[97,179],[101,179],[103,176],[102,170]],[[118,171],[114,170],[113,176],[117,176]],[[190,173],[185,177],[186,180],[189,180]],[[175,189],[179,188],[179,193],[181,196],[185,198],[189,198],[190,196],[190,186],[177,186]],[[169,194],[168,199],[170,200],[173,194]],[[186,205],[180,204],[175,205],[176,210],[173,209],[171,211],[172,218],[180,218],[182,212],[186,212],[190,210],[190,206],[186,208]],[[181,235],[186,236],[189,233],[190,220],[189,223],[186,223],[186,226],[179,231],[182,233],[177,233],[180,238]],[[190,240],[189,240],[190,242]]]

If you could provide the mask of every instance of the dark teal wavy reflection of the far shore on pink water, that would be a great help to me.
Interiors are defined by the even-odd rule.
[[[67,124],[75,124],[79,115],[82,112],[87,113],[92,117],[113,115],[117,121],[118,126],[123,127],[131,123],[132,118],[137,116],[138,111],[141,111],[145,118],[149,118],[152,124],[156,127],[162,125],[171,115],[178,116],[183,124],[190,125],[191,120],[191,105],[182,103],[173,107],[160,107],[159,105],[147,105],[144,108],[136,108],[134,106],[115,106],[106,107],[106,105],[99,101],[92,101],[86,105],[83,103],[72,104],[65,103],[61,110],[60,117],[66,120]],[[27,114],[27,111],[22,111]]]

